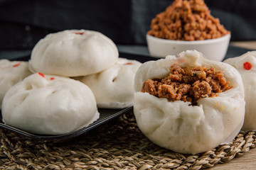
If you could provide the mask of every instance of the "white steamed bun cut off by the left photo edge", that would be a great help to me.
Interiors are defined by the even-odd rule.
[[[30,74],[28,62],[0,60],[0,108],[6,92]]]

